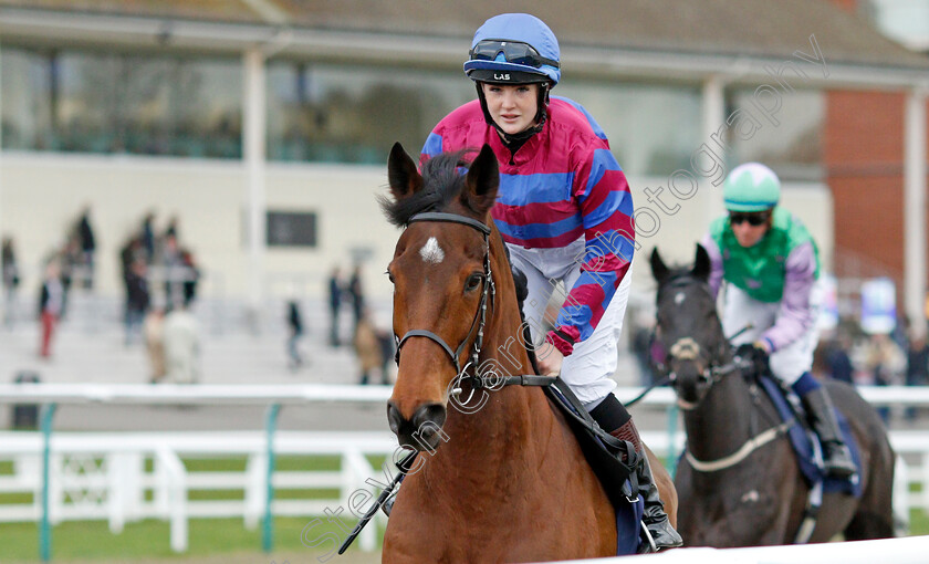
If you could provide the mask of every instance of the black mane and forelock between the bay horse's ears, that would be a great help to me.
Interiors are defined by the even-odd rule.
[[[456,150],[436,155],[422,164],[422,189],[401,200],[378,196],[380,209],[387,221],[405,227],[409,219],[424,211],[441,211],[461,194],[464,176],[459,167],[467,167],[470,160],[464,155],[471,150]]]

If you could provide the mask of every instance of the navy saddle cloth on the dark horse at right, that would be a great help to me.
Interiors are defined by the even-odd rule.
[[[775,382],[771,376],[759,377],[758,382],[761,383],[762,388],[771,398],[771,401],[777,409],[777,414],[781,416],[782,421],[786,421],[790,418],[794,417],[794,408],[789,404],[790,400],[785,396],[785,394],[791,394],[794,398],[796,398],[796,395],[792,390],[785,390],[784,388],[782,388],[781,385],[777,382]],[[800,407],[798,399],[793,401],[793,405],[797,406],[796,408],[802,409],[802,407]],[[800,416],[798,424],[794,424],[791,426],[790,431],[787,432],[787,437],[790,437],[791,446],[793,446],[794,453],[796,455],[796,460],[800,464],[800,471],[810,487],[825,480],[823,482],[823,493],[843,492],[852,494],[856,498],[860,498],[862,460],[860,451],[858,449],[858,442],[855,440],[855,436],[852,435],[852,429],[848,427],[848,420],[845,418],[842,411],[835,409],[835,415],[838,420],[838,427],[842,430],[842,436],[845,439],[845,443],[848,445],[848,449],[852,451],[852,460],[858,468],[858,473],[853,476],[849,480],[826,478],[825,471],[823,470],[822,460],[817,460],[813,456],[813,442],[811,440],[811,437],[815,437],[814,440],[817,441],[820,439],[816,436],[816,434],[813,432],[806,425],[806,418],[803,414],[801,414]],[[822,451],[822,447],[820,448],[820,451]]]

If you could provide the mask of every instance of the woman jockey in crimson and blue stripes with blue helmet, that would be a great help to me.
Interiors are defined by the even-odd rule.
[[[474,33],[469,54],[464,74],[478,100],[439,122],[421,159],[491,146],[500,164],[491,215],[513,268],[529,281],[524,313],[533,342],[546,343],[536,346],[539,368],[561,374],[604,430],[643,452],[631,416],[612,394],[635,237],[626,177],[594,118],[580,104],[549,95],[561,69],[557,39],[544,22],[525,13],[491,18]],[[545,334],[559,282],[567,295]],[[644,522],[658,549],[679,546],[643,460]]]

